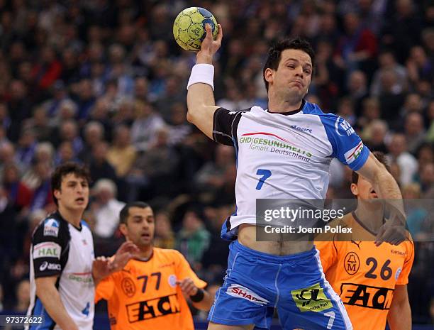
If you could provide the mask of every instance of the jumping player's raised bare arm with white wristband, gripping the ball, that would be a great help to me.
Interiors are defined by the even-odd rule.
[[[213,40],[211,26],[206,24],[206,37],[202,41],[201,50],[196,55],[196,65],[191,70],[189,85],[187,87],[187,120],[213,138],[213,116],[218,106],[214,100],[213,55],[221,46],[223,31],[218,25],[216,40]]]

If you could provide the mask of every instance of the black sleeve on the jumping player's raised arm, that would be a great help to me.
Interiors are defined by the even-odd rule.
[[[240,114],[240,111],[218,108],[213,117],[213,140],[224,145],[233,145],[233,123]]]

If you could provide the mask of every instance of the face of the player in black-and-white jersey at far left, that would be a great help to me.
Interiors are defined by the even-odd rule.
[[[89,202],[89,184],[84,177],[69,173],[62,177],[60,190],[54,191],[59,207],[71,211],[84,211]]]

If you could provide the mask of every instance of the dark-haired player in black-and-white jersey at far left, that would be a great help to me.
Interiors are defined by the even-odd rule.
[[[36,227],[30,247],[28,315],[43,316],[30,330],[91,330],[95,284],[121,269],[137,251],[124,243],[112,259],[94,258],[94,241],[82,214],[89,202],[89,171],[65,163],[52,175],[57,211]]]

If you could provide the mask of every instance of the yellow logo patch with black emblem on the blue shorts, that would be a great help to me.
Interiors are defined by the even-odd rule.
[[[321,312],[333,307],[319,283],[300,290],[291,290],[292,299],[300,312]]]

